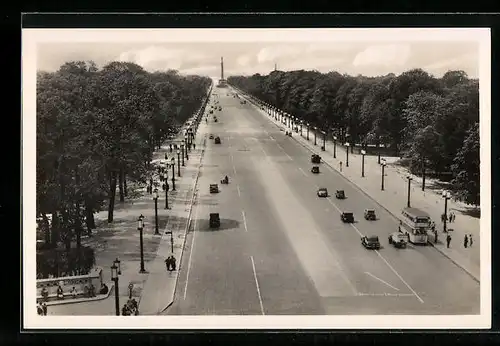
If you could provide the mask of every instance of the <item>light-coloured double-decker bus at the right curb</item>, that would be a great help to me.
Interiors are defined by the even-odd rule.
[[[427,244],[427,231],[430,229],[429,214],[417,208],[404,208],[401,212],[399,231],[407,234],[412,244]]]

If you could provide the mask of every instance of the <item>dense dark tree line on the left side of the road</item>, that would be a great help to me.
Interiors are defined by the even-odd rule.
[[[155,148],[199,109],[210,85],[126,62],[39,72],[36,206],[47,247],[62,241],[69,250],[76,238],[79,248],[106,204],[112,222],[117,186],[123,202],[127,181],[145,181]]]

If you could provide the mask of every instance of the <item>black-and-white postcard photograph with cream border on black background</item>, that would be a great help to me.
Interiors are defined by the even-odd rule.
[[[490,32],[23,29],[25,328],[489,328]]]

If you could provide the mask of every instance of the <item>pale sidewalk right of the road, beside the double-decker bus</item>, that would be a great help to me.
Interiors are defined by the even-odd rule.
[[[242,91],[240,90],[240,92]],[[258,101],[254,101],[256,99],[250,96],[247,97],[254,104],[257,104]],[[262,110],[259,106],[257,107],[278,127],[287,127],[275,120],[265,110]],[[444,212],[444,199],[441,197],[442,189],[438,189],[439,184],[436,180],[427,178],[426,189],[422,191],[421,178],[409,174],[407,169],[397,165],[396,162],[399,158],[386,157],[384,191],[382,191],[382,170],[376,155],[365,156],[365,177],[361,177],[362,155],[349,152],[349,167],[346,167],[347,154],[345,148],[337,143],[336,158],[333,158],[333,142],[327,140],[326,151],[322,151],[323,137],[320,133],[317,134],[317,145],[314,145],[314,130],[309,130],[309,141],[306,139],[305,126],[303,127],[302,136],[299,130],[298,133],[293,133],[293,138],[313,153],[321,155],[323,161],[338,172],[340,172],[340,162],[342,161],[341,174],[398,219],[401,210],[407,205],[408,180],[406,177],[410,175],[413,178],[410,188],[411,206],[426,211],[436,222],[438,242],[434,243],[434,235],[429,233],[430,245],[464,269],[476,281],[480,281],[480,219],[470,215],[473,208],[453,199],[448,200],[448,214],[453,211],[456,220],[453,223],[447,223],[447,228],[453,229],[453,232],[450,232],[452,236],[450,248],[446,248],[446,234],[442,232],[443,224],[440,221],[441,214]],[[466,234],[472,234],[474,240],[472,247],[464,248],[463,246],[463,239]]]

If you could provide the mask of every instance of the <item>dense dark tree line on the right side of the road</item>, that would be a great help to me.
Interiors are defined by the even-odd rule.
[[[411,159],[414,173],[424,164],[451,172],[457,196],[479,203],[479,82],[463,71],[442,78],[421,69],[381,77],[273,71],[228,81],[343,141],[390,147]]]

